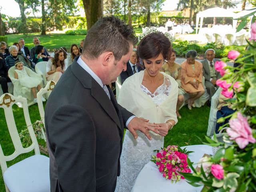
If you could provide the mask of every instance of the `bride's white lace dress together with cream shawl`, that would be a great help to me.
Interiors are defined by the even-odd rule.
[[[134,74],[125,80],[118,97],[118,103],[138,117],[149,119],[150,122],[163,123],[176,118],[176,102],[178,85],[169,75],[164,74],[164,82],[154,93],[142,83],[144,71]],[[164,146],[164,137],[151,134],[152,140],[140,131],[138,138],[126,130],[120,157],[121,174],[117,179],[115,192],[130,192],[140,170],[151,159],[153,150]]]

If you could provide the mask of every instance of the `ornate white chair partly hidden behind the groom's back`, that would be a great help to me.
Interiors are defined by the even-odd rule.
[[[48,94],[48,96],[49,96],[50,93],[52,92],[52,90],[54,89],[55,85],[56,85],[56,83],[54,81],[49,81],[47,83],[47,85],[45,86],[45,88],[42,88],[37,93],[38,110],[39,110],[39,114],[40,114],[40,117],[41,117],[41,120],[42,120],[43,124],[44,124],[44,106],[43,106],[43,102],[42,102],[42,96],[44,94]],[[45,124],[44,124],[44,127],[45,127]],[[44,133],[43,133],[43,136],[44,136],[44,139],[46,139]]]

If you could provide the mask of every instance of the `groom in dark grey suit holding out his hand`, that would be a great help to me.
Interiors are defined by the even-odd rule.
[[[159,133],[117,104],[105,86],[126,70],[136,41],[118,18],[101,18],[52,91],[45,109],[51,192],[114,192],[124,125],[134,138],[136,130],[149,139],[148,130]]]

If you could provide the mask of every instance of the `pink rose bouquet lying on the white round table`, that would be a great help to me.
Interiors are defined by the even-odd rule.
[[[187,152],[185,149],[182,150],[176,145],[169,145],[160,151],[154,151],[157,153],[156,156],[152,156],[153,159],[151,161],[156,163],[159,172],[162,173],[165,179],[178,182],[180,179],[184,179],[180,172],[191,172],[187,163],[187,154],[190,152]]]

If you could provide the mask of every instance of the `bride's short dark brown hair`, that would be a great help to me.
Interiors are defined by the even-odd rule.
[[[171,43],[169,39],[162,33],[150,33],[145,36],[138,46],[138,57],[142,59],[156,58],[162,54],[164,59],[169,59]]]

